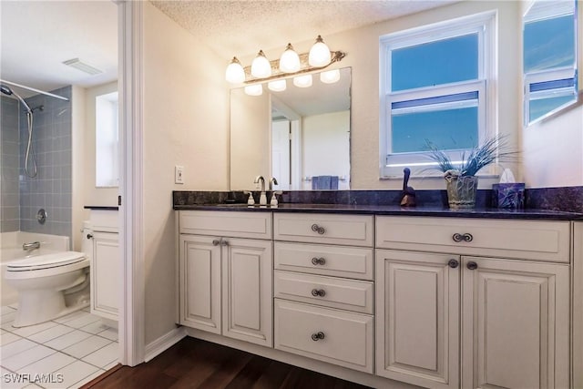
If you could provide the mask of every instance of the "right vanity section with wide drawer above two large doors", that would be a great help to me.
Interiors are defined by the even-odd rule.
[[[569,241],[568,221],[377,217],[376,374],[569,387]]]

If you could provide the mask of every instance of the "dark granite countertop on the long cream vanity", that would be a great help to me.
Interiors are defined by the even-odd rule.
[[[351,213],[393,216],[432,216],[447,218],[521,219],[521,220],[583,220],[583,213],[557,210],[499,210],[476,208],[474,210],[450,210],[444,207],[399,207],[393,205],[349,204],[279,204],[277,208],[252,206],[240,203],[174,205],[174,210],[229,210],[245,212],[313,212]]]

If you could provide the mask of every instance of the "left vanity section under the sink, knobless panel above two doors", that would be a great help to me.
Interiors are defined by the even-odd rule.
[[[179,323],[271,347],[271,213],[183,210],[179,232]]]

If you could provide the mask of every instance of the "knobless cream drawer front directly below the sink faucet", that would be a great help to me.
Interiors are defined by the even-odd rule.
[[[271,239],[271,212],[180,210],[179,232]]]

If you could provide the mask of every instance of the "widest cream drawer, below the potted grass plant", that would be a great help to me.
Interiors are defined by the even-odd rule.
[[[379,216],[376,247],[568,262],[569,231],[568,221]]]

